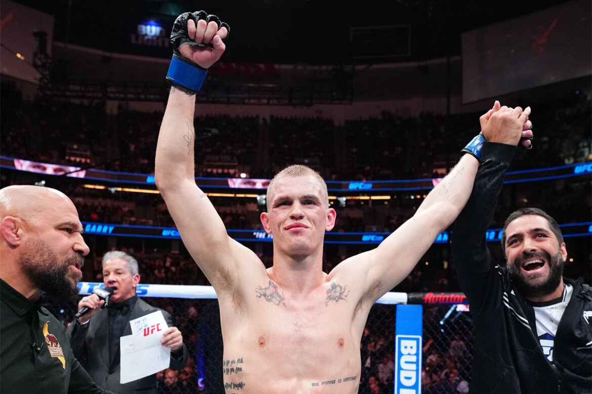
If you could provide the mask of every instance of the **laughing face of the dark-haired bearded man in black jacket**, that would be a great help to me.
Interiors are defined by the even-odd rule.
[[[542,216],[524,215],[506,229],[508,271],[526,297],[551,294],[561,283],[567,259],[565,243],[557,237]]]

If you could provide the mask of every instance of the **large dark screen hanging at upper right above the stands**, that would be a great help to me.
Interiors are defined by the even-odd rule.
[[[592,73],[592,2],[577,0],[462,35],[462,101]]]

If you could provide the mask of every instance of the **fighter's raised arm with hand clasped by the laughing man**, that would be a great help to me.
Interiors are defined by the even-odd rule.
[[[387,237],[374,250],[345,261],[348,269],[362,269],[368,301],[379,297],[400,283],[430,248],[437,235],[456,219],[468,200],[479,167],[480,144],[487,140],[517,145],[521,138],[532,136],[529,130],[530,108],[494,108],[481,116],[482,134],[467,145],[465,154],[453,170],[428,194],[411,219]],[[523,142],[530,145],[530,141]],[[343,264],[343,263],[342,263]],[[358,266],[359,268],[353,268]],[[365,267],[365,268],[363,268]],[[339,266],[338,266],[339,268]]]

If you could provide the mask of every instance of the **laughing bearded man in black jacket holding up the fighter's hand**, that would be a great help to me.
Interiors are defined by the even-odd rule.
[[[557,222],[540,209],[510,214],[494,262],[485,232],[515,147],[485,142],[452,252],[471,305],[475,353],[471,392],[591,393],[592,289],[563,278],[567,249]]]

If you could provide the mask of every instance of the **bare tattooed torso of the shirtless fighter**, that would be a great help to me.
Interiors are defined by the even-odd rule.
[[[226,394],[358,392],[369,307],[346,278],[325,278],[294,294],[262,269],[244,278],[258,285],[245,285],[241,301],[218,291]]]

